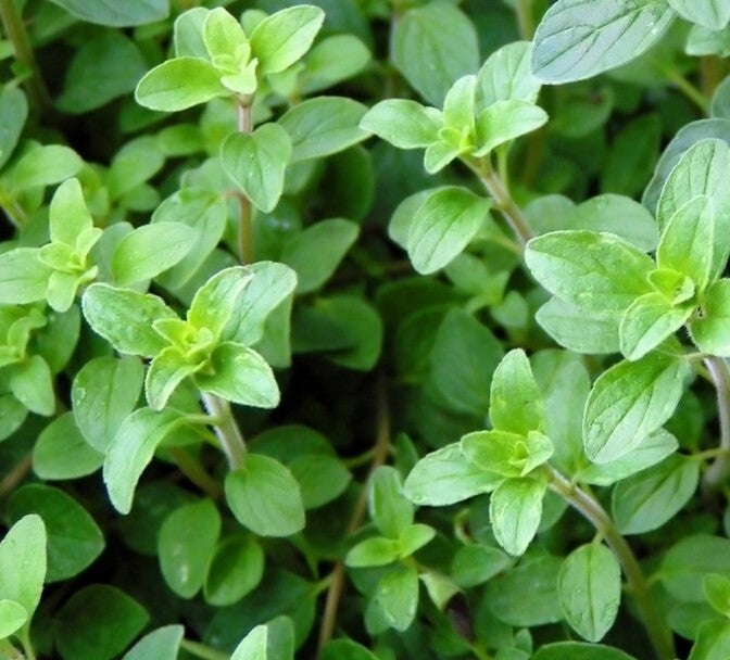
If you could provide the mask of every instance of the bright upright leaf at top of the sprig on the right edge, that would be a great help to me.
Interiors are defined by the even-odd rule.
[[[714,239],[713,201],[704,195],[693,198],[664,226],[656,251],[657,265],[685,275],[701,293],[709,282]]]

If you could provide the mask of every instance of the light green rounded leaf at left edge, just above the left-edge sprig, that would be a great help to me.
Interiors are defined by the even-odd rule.
[[[68,147],[35,145],[9,168],[11,186],[20,192],[32,188],[53,186],[78,174],[84,161]]]

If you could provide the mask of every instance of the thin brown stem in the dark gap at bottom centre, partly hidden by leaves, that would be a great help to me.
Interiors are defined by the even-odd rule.
[[[367,492],[368,482],[375,470],[388,459],[388,452],[390,450],[390,405],[388,403],[388,382],[382,370],[378,375],[377,383],[377,430],[376,441],[373,454],[373,462],[368,471],[365,485],[360,493],[357,503],[352,509],[350,522],[348,523],[347,535],[353,534],[365,519],[367,512]],[[325,610],[322,617],[322,625],[319,626],[319,639],[317,642],[317,656],[319,656],[327,646],[327,643],[332,638],[335,626],[337,624],[337,610],[340,605],[340,599],[344,592],[344,563],[338,561],[335,564],[331,573],[331,581],[327,589],[327,599],[325,600]]]

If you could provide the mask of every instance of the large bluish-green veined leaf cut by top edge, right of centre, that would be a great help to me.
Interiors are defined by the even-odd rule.
[[[657,41],[674,16],[666,0],[557,0],[534,33],[532,71],[563,84],[616,68]]]

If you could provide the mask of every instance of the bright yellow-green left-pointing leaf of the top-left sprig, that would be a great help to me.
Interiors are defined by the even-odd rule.
[[[148,72],[137,84],[135,100],[143,107],[177,112],[230,93],[206,60],[175,58]]]

